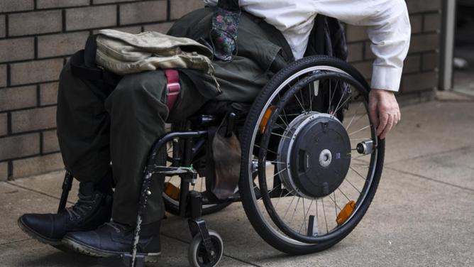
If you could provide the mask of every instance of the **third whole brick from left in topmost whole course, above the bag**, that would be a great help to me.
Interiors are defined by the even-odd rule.
[[[120,5],[120,25],[165,21],[166,18],[167,1],[145,1]]]

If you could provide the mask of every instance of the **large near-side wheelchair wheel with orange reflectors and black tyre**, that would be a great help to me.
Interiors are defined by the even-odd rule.
[[[239,187],[250,223],[275,249],[328,249],[367,211],[385,148],[368,116],[369,90],[348,63],[314,56],[278,72],[255,99]]]

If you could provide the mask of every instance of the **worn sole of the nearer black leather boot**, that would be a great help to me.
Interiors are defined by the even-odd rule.
[[[102,250],[102,249],[96,249],[96,248],[93,248],[92,246],[82,244],[79,241],[69,239],[67,237],[62,239],[62,244],[67,246],[69,249],[72,249],[73,251],[78,252],[79,254],[84,254],[84,255],[87,255],[87,256],[93,256],[93,257],[98,257],[98,258],[104,258],[104,257],[110,257],[110,256],[120,256],[122,254],[129,254],[130,253],[130,251],[118,252],[118,251],[106,251],[106,250]],[[158,262],[158,258],[161,255],[161,252],[138,253],[138,255],[145,256],[145,262],[156,263],[156,262]]]

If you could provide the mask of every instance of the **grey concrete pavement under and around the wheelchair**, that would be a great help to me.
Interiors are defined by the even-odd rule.
[[[346,239],[319,254],[287,256],[260,239],[236,203],[205,217],[224,239],[220,266],[474,266],[474,99],[444,97],[404,107],[402,116],[387,139],[373,204]],[[62,175],[0,182],[0,266],[100,266],[16,226],[25,212],[54,212]],[[160,262],[148,266],[187,266],[187,222],[168,217],[162,235]]]

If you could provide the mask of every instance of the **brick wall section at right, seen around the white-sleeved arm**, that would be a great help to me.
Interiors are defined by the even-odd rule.
[[[402,104],[432,99],[438,87],[441,0],[406,0],[412,23],[412,41],[404,62],[400,94]],[[372,75],[373,53],[363,27],[347,26],[349,61],[366,79]]]

